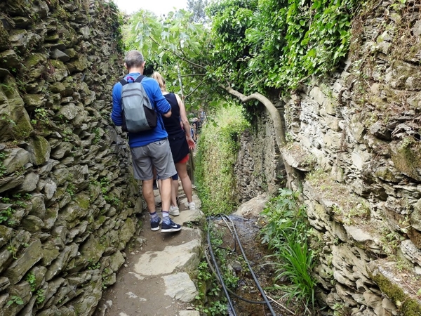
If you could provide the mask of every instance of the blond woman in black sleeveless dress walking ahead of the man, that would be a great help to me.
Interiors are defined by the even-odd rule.
[[[196,209],[192,198],[192,181],[187,173],[187,162],[189,161],[190,150],[195,147],[192,134],[190,133],[190,124],[187,119],[186,109],[181,98],[175,93],[166,91],[165,79],[154,72],[152,78],[158,81],[163,96],[171,105],[171,117],[163,117],[163,126],[168,133],[168,140],[170,141],[171,152],[173,153],[173,160],[175,169],[178,175],[173,176],[173,191],[171,194],[170,214],[175,216],[179,214],[177,205],[178,195],[178,177],[180,177],[182,189],[187,197],[187,206],[189,209]]]

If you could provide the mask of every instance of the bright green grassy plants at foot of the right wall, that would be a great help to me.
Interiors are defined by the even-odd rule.
[[[271,199],[262,216],[267,225],[261,230],[262,242],[274,251],[275,282],[286,279],[288,284],[274,285],[283,291],[283,298],[305,303],[306,312],[315,308],[316,280],[312,277],[314,253],[307,244],[309,225],[305,205],[298,204],[298,192],[280,189]],[[307,315],[307,314],[305,314]]]

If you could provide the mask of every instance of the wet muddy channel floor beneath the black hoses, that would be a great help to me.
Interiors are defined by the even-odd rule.
[[[286,302],[279,299],[281,292],[271,291],[268,288],[272,287],[274,284],[275,269],[272,264],[272,258],[269,257],[270,252],[267,247],[260,242],[260,225],[258,224],[257,219],[244,219],[235,216],[229,216],[229,219],[232,220],[234,224],[234,229],[229,229],[228,225],[232,225],[229,220],[224,221],[221,218],[215,218],[211,221],[213,224],[213,229],[211,230],[212,234],[222,236],[221,239],[223,243],[220,247],[225,249],[234,250],[232,253],[227,252],[227,262],[225,265],[232,267],[234,275],[239,277],[237,282],[235,295],[230,295],[234,305],[234,310],[237,316],[266,316],[266,315],[293,315],[293,313],[288,312],[286,308]],[[234,235],[238,235],[239,241],[242,247],[238,242],[234,243]],[[215,246],[213,246],[213,249]],[[243,251],[241,251],[241,248]],[[252,272],[250,272],[247,265],[247,261],[243,259],[243,254],[246,256],[251,270],[255,275],[255,278],[258,280],[256,284],[255,279],[253,278]],[[223,269],[221,267],[221,269]],[[261,291],[269,296],[267,301],[269,302],[270,308],[267,305],[265,299],[262,297]],[[278,297],[278,298],[276,298]],[[276,298],[276,301],[272,301],[270,298]],[[250,303],[252,301],[253,303]],[[261,303],[256,303],[261,302]],[[294,308],[295,315],[300,314],[300,308]],[[298,309],[298,310],[297,310]]]

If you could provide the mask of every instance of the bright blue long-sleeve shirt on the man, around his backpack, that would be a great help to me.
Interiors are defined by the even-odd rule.
[[[132,72],[127,74],[127,77],[132,77],[133,81],[140,76],[139,72]],[[158,82],[152,78],[145,77],[142,80],[142,86],[145,88],[147,96],[154,106],[156,112],[158,112],[158,122],[154,129],[148,131],[141,131],[139,133],[128,133],[128,145],[130,147],[142,147],[158,140],[163,140],[168,137],[168,133],[163,127],[163,121],[161,114],[166,114],[171,110],[171,105],[168,103],[166,98],[162,95],[161,89],[159,88]],[[116,126],[123,125],[122,109],[121,109],[121,86],[120,82],[114,84],[112,88],[112,113],[111,119]]]

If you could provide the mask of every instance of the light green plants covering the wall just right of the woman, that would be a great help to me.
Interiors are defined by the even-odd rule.
[[[238,136],[248,126],[238,105],[222,107],[214,121],[203,126],[196,154],[196,186],[207,215],[231,213],[236,207],[234,163]]]

